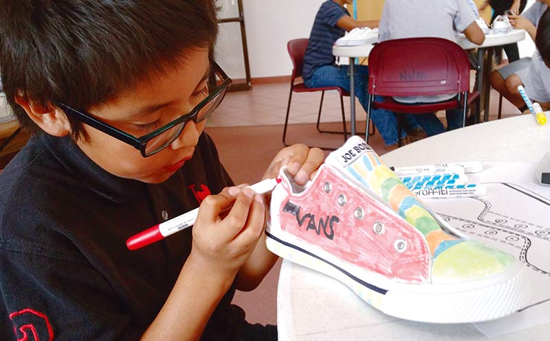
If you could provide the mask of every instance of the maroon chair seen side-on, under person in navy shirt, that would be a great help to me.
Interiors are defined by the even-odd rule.
[[[292,93],[311,93],[314,91],[321,91],[321,102],[319,104],[319,113],[317,115],[317,130],[322,133],[328,133],[328,134],[344,134],[344,142],[347,140],[347,128],[346,128],[346,116],[344,115],[344,96],[349,96],[349,92],[345,91],[344,89],[340,88],[340,86],[325,86],[322,88],[308,88],[305,86],[303,82],[300,82],[298,84],[294,84],[296,78],[299,78],[302,76],[302,65],[304,62],[304,54],[305,49],[307,48],[307,42],[309,39],[307,38],[300,38],[300,39],[294,39],[290,40],[287,43],[287,49],[288,54],[290,56],[290,59],[292,60],[292,65],[294,69],[292,69],[292,75],[290,78],[290,94],[288,97],[288,105],[287,105],[287,116],[285,117],[285,128],[283,129],[283,144],[288,145],[286,142],[287,137],[287,126],[288,126],[288,117],[290,113],[290,102],[292,101]],[[325,97],[325,91],[328,90],[336,90],[340,94],[340,107],[342,108],[342,128],[343,132],[338,131],[331,131],[331,130],[321,130],[320,129],[320,118],[321,118],[321,110],[322,110],[322,100]],[[333,148],[324,148],[322,149],[333,149]]]

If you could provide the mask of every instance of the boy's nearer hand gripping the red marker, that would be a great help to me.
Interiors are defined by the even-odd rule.
[[[232,281],[250,257],[264,225],[265,207],[261,196],[250,188],[225,188],[202,202],[192,230],[189,260],[212,277],[222,276]]]

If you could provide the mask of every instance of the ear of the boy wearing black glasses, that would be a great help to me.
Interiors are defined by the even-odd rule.
[[[51,104],[43,106],[26,97],[20,91],[15,95],[15,102],[25,109],[30,119],[48,134],[64,137],[71,133],[71,124],[60,108]]]

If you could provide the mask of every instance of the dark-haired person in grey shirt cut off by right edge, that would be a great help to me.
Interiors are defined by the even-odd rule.
[[[527,77],[524,79],[527,97],[538,102],[542,110],[550,110],[550,10],[540,17],[535,45]]]

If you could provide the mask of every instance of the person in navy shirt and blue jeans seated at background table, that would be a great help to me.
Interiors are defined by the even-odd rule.
[[[305,51],[302,76],[306,86],[317,88],[322,86],[340,86],[349,91],[348,66],[337,66],[332,54],[332,45],[346,31],[355,27],[375,27],[377,21],[356,21],[353,19],[344,4],[351,4],[353,0],[327,0],[319,8],[309,43]],[[355,68],[355,95],[366,110],[369,102],[367,84],[369,82],[369,67],[358,65]],[[386,145],[397,144],[397,119],[391,111],[371,110],[371,118]],[[415,127],[414,119],[408,122],[408,127]],[[412,128],[410,129],[412,131]],[[406,133],[401,134],[406,137]]]

